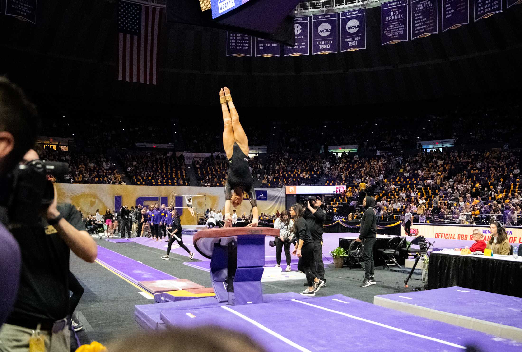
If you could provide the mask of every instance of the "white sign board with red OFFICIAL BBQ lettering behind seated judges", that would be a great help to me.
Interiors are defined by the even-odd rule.
[[[460,239],[473,240],[473,230],[478,228],[482,232],[484,241],[491,239],[489,226],[462,226],[462,225],[430,225],[412,224],[410,234],[412,236],[421,235],[426,238]],[[506,227],[507,239],[511,244],[522,243],[522,227]]]

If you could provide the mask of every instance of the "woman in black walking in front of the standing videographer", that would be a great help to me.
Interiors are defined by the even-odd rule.
[[[297,268],[306,275],[308,287],[300,292],[303,296],[315,296],[315,293],[323,287],[324,281],[319,280],[312,274],[311,264],[314,260],[314,241],[310,234],[310,229],[306,226],[306,220],[303,219],[303,206],[294,204],[290,207],[290,215],[294,221],[291,232],[295,234],[297,244],[292,254],[299,257]]]

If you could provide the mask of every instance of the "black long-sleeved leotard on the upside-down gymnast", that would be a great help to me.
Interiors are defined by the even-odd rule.
[[[232,190],[242,188],[247,192],[252,208],[257,207],[256,192],[253,187],[252,174],[248,168],[248,156],[234,143],[234,151],[229,159],[229,172],[225,184],[225,199],[232,198]],[[239,196],[239,195],[238,195]]]

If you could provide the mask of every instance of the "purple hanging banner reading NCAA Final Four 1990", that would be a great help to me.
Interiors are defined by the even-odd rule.
[[[337,13],[312,16],[312,55],[337,53]]]

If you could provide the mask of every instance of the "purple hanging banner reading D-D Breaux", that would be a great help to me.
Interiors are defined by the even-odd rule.
[[[408,0],[381,4],[381,44],[408,41]]]

